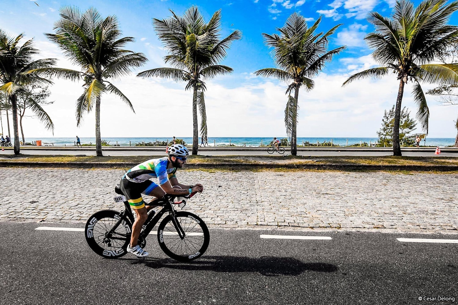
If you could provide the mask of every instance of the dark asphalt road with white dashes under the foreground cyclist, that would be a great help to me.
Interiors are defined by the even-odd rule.
[[[451,304],[458,302],[458,244],[400,237],[458,235],[210,230],[207,252],[179,263],[147,239],[150,257],[98,257],[84,224],[0,222],[0,304]],[[321,235],[332,240],[263,239]]]

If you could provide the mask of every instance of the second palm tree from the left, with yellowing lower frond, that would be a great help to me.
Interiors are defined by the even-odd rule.
[[[114,93],[134,111],[129,99],[107,79],[116,80],[128,75],[132,67],[142,66],[147,58],[142,53],[123,49],[134,38],[121,37],[116,16],[103,18],[95,8],[81,12],[74,6],[64,6],[54,27],[55,34],[45,35],[82,71],[60,69],[53,71],[52,75],[84,80],[85,90],[76,101],[76,126],[82,122],[83,113],[90,112],[95,104],[96,152],[102,156],[100,96]]]

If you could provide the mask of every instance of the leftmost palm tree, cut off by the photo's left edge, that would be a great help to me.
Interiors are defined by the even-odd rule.
[[[0,90],[4,91],[11,103],[14,132],[14,154],[19,155],[19,131],[17,125],[17,95],[24,92],[26,86],[52,84],[41,77],[43,71],[52,69],[55,59],[32,58],[38,54],[38,49],[33,46],[33,39],[20,45],[24,34],[17,37],[8,37],[0,31]],[[11,134],[10,134],[11,136]]]

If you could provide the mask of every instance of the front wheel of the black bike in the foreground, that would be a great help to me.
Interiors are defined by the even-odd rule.
[[[180,238],[168,215],[158,227],[158,241],[162,251],[179,262],[190,262],[201,257],[210,241],[207,225],[198,216],[188,212],[175,212],[175,217],[185,236]]]

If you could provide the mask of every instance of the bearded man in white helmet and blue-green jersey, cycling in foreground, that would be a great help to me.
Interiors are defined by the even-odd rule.
[[[180,184],[176,179],[175,172],[186,163],[186,156],[189,155],[188,149],[181,144],[172,144],[167,149],[167,153],[169,155],[167,157],[151,159],[132,167],[120,182],[121,191],[136,214],[132,225],[131,243],[127,246],[127,252],[137,257],[147,257],[149,254],[138,245],[138,236],[148,217],[142,194],[161,198],[166,193],[180,196],[203,191],[202,184],[189,186]],[[158,178],[159,185],[149,180],[151,178]]]

